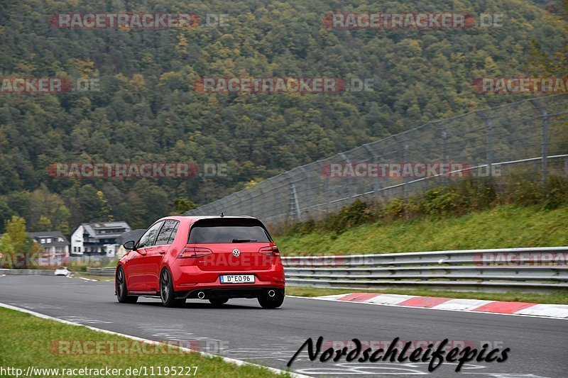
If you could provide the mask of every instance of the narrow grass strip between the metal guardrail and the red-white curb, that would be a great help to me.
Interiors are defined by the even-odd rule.
[[[327,289],[317,287],[286,287],[286,295],[297,296],[324,296],[334,294],[348,294],[361,290],[354,289]],[[392,289],[392,290],[365,290],[366,293],[405,294],[416,296],[441,296],[444,298],[482,299],[486,301],[513,301],[530,302],[537,304],[568,304],[568,290],[559,290],[554,294],[535,293],[479,293],[474,291],[438,291],[428,289]]]

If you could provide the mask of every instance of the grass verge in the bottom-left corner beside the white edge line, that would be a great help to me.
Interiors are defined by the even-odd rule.
[[[106,345],[119,345],[119,342],[136,343],[128,338],[118,335],[108,335],[89,330],[81,326],[70,326],[67,324],[50,321],[47,319],[36,318],[28,313],[0,308],[0,365],[6,367],[16,367],[27,371],[28,367],[42,367],[55,369],[101,369],[110,367],[123,369],[122,374],[117,377],[128,377],[124,374],[129,367],[146,367],[147,372],[157,374],[158,367],[162,368],[162,375],[165,375],[165,367],[196,367],[196,377],[278,377],[277,374],[255,366],[237,366],[224,362],[220,357],[206,357],[195,352],[144,352],[145,349],[126,348],[127,354],[103,353],[103,354],[60,354],[58,340],[71,341],[72,345],[81,344],[82,341],[95,341],[107,343]],[[75,341],[77,340],[77,341]],[[129,345],[131,345],[129,344]],[[73,348],[70,348],[73,351]],[[87,350],[86,347],[81,350]],[[109,347],[104,350],[110,350]],[[152,350],[151,350],[152,351]],[[195,368],[194,368],[195,369]],[[178,370],[179,371],[179,370]],[[191,370],[193,372],[193,369]],[[92,374],[91,374],[92,375]],[[143,375],[143,374],[142,374]],[[174,374],[169,374],[173,376]],[[283,375],[283,377],[288,374]],[[61,377],[53,372],[36,372],[35,377]],[[104,374],[102,376],[105,376]],[[88,374],[75,375],[75,377],[89,377]]]

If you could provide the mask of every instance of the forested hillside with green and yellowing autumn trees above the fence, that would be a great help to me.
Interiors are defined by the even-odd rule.
[[[352,5],[346,5],[352,4]],[[173,30],[59,29],[53,13],[226,13],[228,25]],[[503,13],[503,28],[332,29],[327,12]],[[531,42],[534,40],[534,43]],[[0,4],[2,77],[89,77],[101,91],[0,93],[0,227],[84,221],[134,228],[435,118],[524,99],[474,91],[476,77],[530,76],[567,44],[564,21],[526,0],[96,1]],[[559,69],[557,67],[560,67]],[[208,94],[200,77],[372,78],[373,92]],[[54,179],[53,162],[227,164],[227,177]],[[182,201],[180,201],[182,199]],[[176,201],[178,200],[178,201]]]

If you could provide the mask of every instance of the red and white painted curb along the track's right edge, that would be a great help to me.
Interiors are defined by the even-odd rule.
[[[479,299],[452,299],[437,296],[411,296],[401,294],[351,293],[317,296],[324,301],[343,301],[386,306],[432,308],[434,310],[503,313],[507,315],[546,316],[568,318],[568,305],[533,304],[526,302],[482,301]]]

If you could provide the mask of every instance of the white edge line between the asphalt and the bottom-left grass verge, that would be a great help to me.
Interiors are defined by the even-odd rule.
[[[45,313],[38,313],[38,312],[35,312],[35,311],[26,310],[26,308],[10,306],[9,304],[4,304],[4,303],[1,303],[1,302],[0,302],[0,307],[9,308],[11,310],[21,311],[21,312],[24,312],[24,313],[29,313],[30,315],[37,316],[38,318],[48,319],[48,320],[51,320],[51,321],[58,321],[60,323],[69,324],[70,326],[80,326],[80,327],[89,328],[89,330],[94,330],[96,332],[101,332],[101,333],[107,333],[108,335],[118,335],[118,336],[122,336],[124,338],[129,338],[131,340],[141,341],[143,343],[148,343],[148,344],[151,344],[151,345],[163,345],[163,343],[160,343],[159,341],[148,340],[148,339],[145,339],[145,338],[138,338],[136,336],[126,335],[124,333],[113,332],[111,330],[104,330],[104,329],[101,329],[101,328],[95,328],[95,327],[92,327],[92,326],[85,326],[84,324],[74,323],[72,321],[66,321],[64,319],[55,318],[53,316],[45,315]],[[308,375],[297,374],[297,373],[293,373],[293,372],[286,372],[285,370],[276,369],[275,367],[262,366],[262,365],[253,364],[252,362],[235,360],[234,358],[223,357],[223,356],[219,356],[219,355],[212,355],[211,353],[195,351],[195,350],[191,350],[190,348],[182,348],[182,347],[179,347],[179,348],[180,348],[180,350],[183,350],[184,352],[195,352],[195,353],[199,353],[200,355],[202,355],[204,357],[221,358],[221,360],[223,360],[224,362],[228,362],[229,364],[234,364],[234,365],[237,365],[237,366],[263,367],[264,369],[268,369],[273,373],[288,374],[290,377],[293,377],[293,378],[312,378]]]

